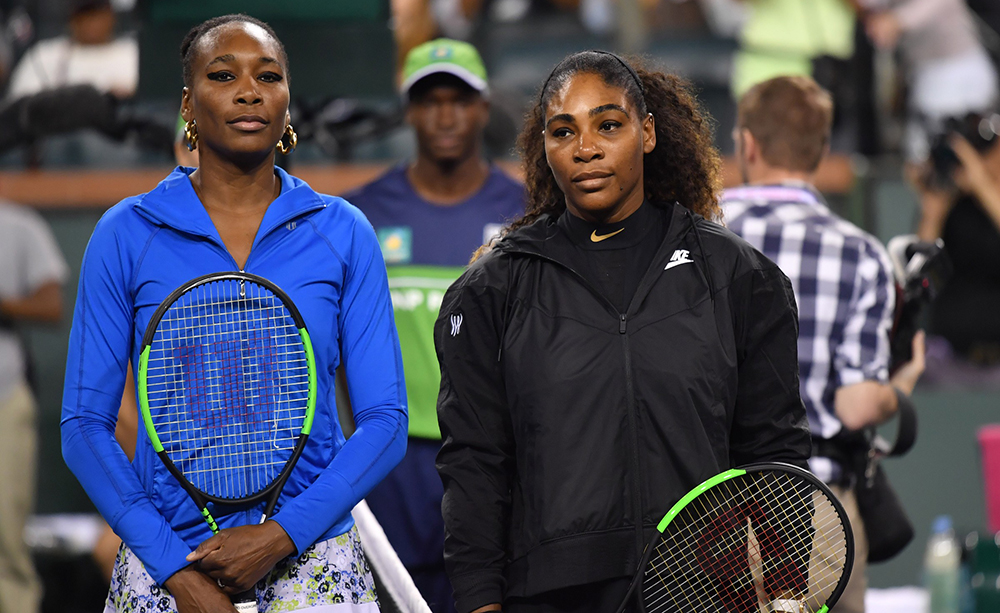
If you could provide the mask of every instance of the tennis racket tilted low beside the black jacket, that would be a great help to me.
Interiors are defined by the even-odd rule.
[[[826,613],[851,574],[844,508],[811,473],[755,464],[705,481],[670,509],[643,552],[646,613]]]

